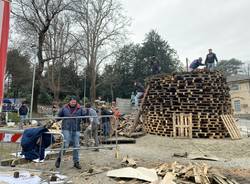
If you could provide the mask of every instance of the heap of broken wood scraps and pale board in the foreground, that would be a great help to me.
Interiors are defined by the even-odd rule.
[[[151,182],[151,184],[238,184],[234,179],[221,175],[204,163],[189,163],[188,165],[177,162],[164,163],[151,169],[125,167],[111,170],[107,176],[120,178],[121,181],[124,178],[130,178],[131,181],[137,179],[136,183]]]

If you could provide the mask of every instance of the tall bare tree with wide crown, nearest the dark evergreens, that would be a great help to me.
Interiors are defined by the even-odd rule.
[[[79,40],[87,62],[91,102],[96,99],[96,77],[100,65],[114,54],[126,35],[129,20],[116,0],[75,0],[72,10],[81,29]]]

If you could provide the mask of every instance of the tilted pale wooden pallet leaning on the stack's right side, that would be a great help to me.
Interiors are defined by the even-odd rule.
[[[221,115],[222,121],[232,139],[241,139],[240,131],[232,115]]]

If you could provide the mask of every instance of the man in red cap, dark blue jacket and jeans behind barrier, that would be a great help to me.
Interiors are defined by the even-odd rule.
[[[80,148],[80,118],[72,118],[77,116],[85,116],[86,113],[77,103],[76,97],[72,96],[68,104],[66,104],[58,113],[58,117],[71,117],[69,119],[62,120],[62,133],[64,135],[64,148],[68,148],[72,143],[73,148],[73,162],[74,167],[81,169],[79,163],[79,149]],[[64,151],[65,152],[65,151]],[[56,160],[56,168],[60,167],[61,163],[61,152]]]

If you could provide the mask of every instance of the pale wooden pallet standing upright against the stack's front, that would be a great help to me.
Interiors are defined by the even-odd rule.
[[[173,137],[192,138],[192,114],[173,115]]]

